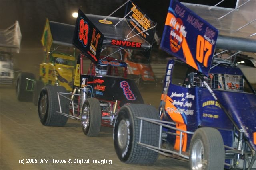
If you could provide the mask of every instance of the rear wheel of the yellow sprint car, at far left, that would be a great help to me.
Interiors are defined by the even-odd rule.
[[[30,72],[21,72],[18,75],[17,83],[16,83],[16,95],[17,99],[20,102],[32,102],[33,99],[33,81],[26,80],[29,79],[36,79],[35,75]],[[30,90],[30,91],[29,91]]]

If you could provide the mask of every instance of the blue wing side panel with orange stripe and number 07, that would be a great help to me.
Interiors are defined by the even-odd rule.
[[[215,27],[178,0],[171,0],[160,45],[164,51],[208,74],[217,37]]]

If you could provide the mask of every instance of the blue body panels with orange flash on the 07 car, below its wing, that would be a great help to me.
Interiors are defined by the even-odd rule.
[[[176,127],[185,131],[195,131],[198,127],[214,127],[220,129],[225,145],[232,146],[234,125],[229,117],[220,107],[220,104],[213,98],[212,94],[204,88],[192,86],[190,88],[172,84],[172,72],[175,67],[175,61],[170,60],[166,71],[164,83],[164,91],[162,100],[165,102],[165,111],[168,118],[163,120],[174,121]],[[213,74],[219,70],[225,75],[232,74],[242,76],[239,68],[228,66],[218,66],[213,70]],[[226,71],[224,71],[226,70]],[[211,74],[212,72],[210,72]],[[184,81],[185,82],[185,81]],[[226,90],[213,90],[223,107],[227,108],[228,114],[238,125],[240,129],[245,130],[245,137],[252,147],[256,149],[254,144],[254,132],[256,131],[256,94],[241,92],[238,89],[228,89],[230,82],[226,82]],[[177,84],[177,83],[176,83]],[[229,133],[229,135],[226,135]],[[184,139],[186,143],[186,137]],[[175,143],[179,143],[177,140]],[[189,143],[189,142],[188,142]],[[186,147],[184,147],[186,148]],[[178,147],[177,147],[178,149]],[[184,149],[187,150],[188,148]]]

